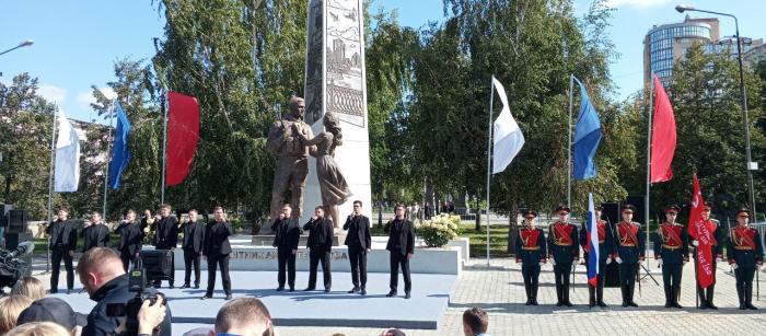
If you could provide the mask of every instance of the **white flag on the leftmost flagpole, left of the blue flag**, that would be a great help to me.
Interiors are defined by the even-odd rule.
[[[58,118],[54,190],[56,193],[77,192],[80,183],[80,138],[63,112],[59,112]]]

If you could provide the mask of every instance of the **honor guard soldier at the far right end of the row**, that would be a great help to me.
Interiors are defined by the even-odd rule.
[[[758,231],[747,225],[750,210],[736,212],[736,228],[729,232],[727,255],[729,264],[734,268],[736,278],[736,296],[740,298],[740,309],[756,310],[753,305],[753,275],[756,268],[764,264],[764,247]]]

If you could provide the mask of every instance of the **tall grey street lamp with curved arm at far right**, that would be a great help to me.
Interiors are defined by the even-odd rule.
[[[712,12],[712,11],[706,11],[706,10],[699,10],[694,8],[693,5],[689,4],[678,4],[675,7],[675,10],[678,11],[678,13],[683,13],[685,11],[689,12],[701,12],[701,13],[708,13],[708,14],[716,14],[716,15],[721,15],[721,16],[729,16],[734,19],[734,27],[736,30],[736,61],[740,65],[740,103],[742,104],[742,123],[744,124],[745,127],[745,152],[747,155],[747,162],[745,163],[745,169],[747,170],[747,187],[750,188],[750,201],[751,201],[751,207],[753,208],[753,218],[757,222],[757,217],[755,212],[755,190],[753,188],[753,172],[757,170],[757,162],[752,162],[752,157],[750,154],[750,127],[747,123],[747,94],[745,93],[745,72],[742,69],[742,39],[740,37],[740,23],[736,20],[736,16],[732,14],[727,14],[727,13],[720,13],[720,12]]]

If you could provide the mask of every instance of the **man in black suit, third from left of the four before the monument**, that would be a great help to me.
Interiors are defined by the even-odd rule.
[[[362,201],[353,201],[353,212],[348,216],[344,230],[348,230],[346,244],[348,258],[351,262],[351,281],[353,288],[348,293],[367,294],[367,253],[372,246],[370,236],[370,219],[362,215]]]

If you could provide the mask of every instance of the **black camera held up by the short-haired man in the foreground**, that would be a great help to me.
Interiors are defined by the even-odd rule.
[[[138,312],[144,301],[149,301],[150,305],[167,304],[165,294],[155,291],[153,288],[147,290],[147,275],[139,266],[137,269],[130,270],[128,275],[128,291],[135,292],[136,297],[128,300],[126,303],[108,303],[106,304],[106,315],[109,317],[125,317],[125,327],[127,335],[138,334]],[[159,331],[155,331],[156,335]]]

